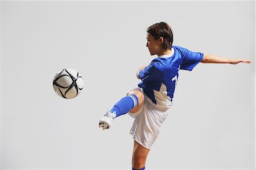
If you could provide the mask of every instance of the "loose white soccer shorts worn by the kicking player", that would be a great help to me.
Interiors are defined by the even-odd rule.
[[[131,90],[141,90],[143,93],[141,88],[133,88]],[[169,109],[160,110],[145,94],[144,97],[141,109],[136,113],[128,113],[131,117],[135,118],[130,134],[133,135],[134,140],[150,150],[156,138],[158,138],[160,128],[168,115]]]

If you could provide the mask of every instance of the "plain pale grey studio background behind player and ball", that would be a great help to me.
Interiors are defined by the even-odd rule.
[[[2,1],[1,168],[131,169],[133,118],[97,123],[156,57],[147,27],[164,21],[174,45],[254,62],[254,14],[254,1]],[[53,91],[63,68],[84,77],[74,99]],[[147,169],[254,169],[254,63],[179,74]]]

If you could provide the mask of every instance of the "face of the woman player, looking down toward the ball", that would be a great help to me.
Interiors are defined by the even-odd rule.
[[[146,47],[150,51],[150,55],[158,55],[158,53],[161,51],[161,44],[162,44],[162,39],[159,38],[158,40],[155,40],[154,37],[147,33],[147,45]]]

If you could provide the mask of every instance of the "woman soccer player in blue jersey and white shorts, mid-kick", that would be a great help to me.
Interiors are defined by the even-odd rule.
[[[106,115],[100,119],[103,130],[111,127],[115,118],[129,113],[135,118],[130,134],[134,148],[132,168],[145,169],[146,158],[160,127],[172,106],[179,70],[192,71],[199,63],[251,63],[249,60],[233,60],[215,55],[192,52],[172,45],[173,34],[167,23],[160,22],[147,28],[147,44],[150,55],[158,57],[138,69],[141,79],[137,88],[131,89]]]

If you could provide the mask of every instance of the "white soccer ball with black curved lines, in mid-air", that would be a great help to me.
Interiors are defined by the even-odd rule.
[[[74,98],[81,93],[84,87],[79,72],[71,68],[65,68],[58,72],[53,79],[55,93],[63,98]]]

